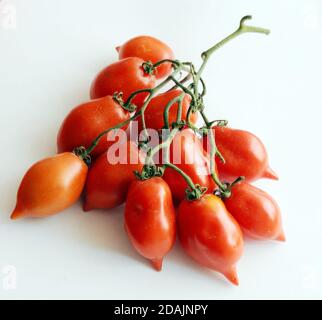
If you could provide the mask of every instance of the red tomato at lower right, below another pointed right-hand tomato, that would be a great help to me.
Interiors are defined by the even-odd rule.
[[[241,182],[233,186],[225,205],[248,236],[258,240],[285,240],[280,209],[266,192]]]

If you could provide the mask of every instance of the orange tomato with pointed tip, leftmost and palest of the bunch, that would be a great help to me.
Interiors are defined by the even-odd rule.
[[[71,152],[35,163],[23,177],[11,219],[46,217],[80,197],[87,175],[83,160]]]

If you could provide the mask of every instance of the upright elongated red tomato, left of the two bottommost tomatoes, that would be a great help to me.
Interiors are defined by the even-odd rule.
[[[132,182],[126,199],[125,229],[134,248],[161,270],[176,237],[171,192],[162,178]]]

